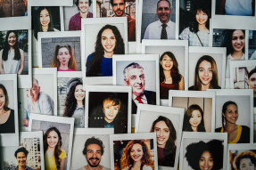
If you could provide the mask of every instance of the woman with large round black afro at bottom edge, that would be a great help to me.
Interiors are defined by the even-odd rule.
[[[219,140],[193,142],[186,147],[188,166],[194,170],[220,170],[223,168],[223,144]]]

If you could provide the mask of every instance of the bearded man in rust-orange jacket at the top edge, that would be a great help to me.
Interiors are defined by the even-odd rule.
[[[128,18],[128,41],[136,41],[136,20],[125,13],[126,0],[111,0],[111,6],[114,14],[111,17],[127,17]]]

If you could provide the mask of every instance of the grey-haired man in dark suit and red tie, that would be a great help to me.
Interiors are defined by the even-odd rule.
[[[137,103],[156,104],[156,93],[145,90],[145,73],[142,66],[132,62],[123,70],[123,75],[125,84],[132,86],[132,114],[136,114]]]

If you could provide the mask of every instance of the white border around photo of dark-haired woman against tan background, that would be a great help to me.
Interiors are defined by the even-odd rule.
[[[169,106],[172,106],[173,97],[194,97],[194,98],[211,98],[211,133],[215,132],[215,92],[210,91],[178,91],[169,90]]]

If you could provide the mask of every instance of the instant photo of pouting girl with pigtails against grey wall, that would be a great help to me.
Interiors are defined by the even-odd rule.
[[[39,67],[81,71],[80,36],[80,31],[39,32]]]

